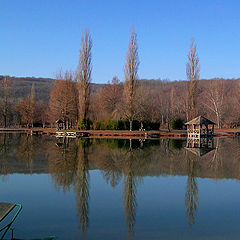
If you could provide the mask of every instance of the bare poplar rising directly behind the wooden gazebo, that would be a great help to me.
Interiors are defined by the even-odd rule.
[[[188,83],[188,109],[189,118],[196,117],[196,92],[199,81],[199,58],[196,51],[196,44],[194,40],[191,41],[190,49],[187,55],[188,62],[186,67],[186,74]]]

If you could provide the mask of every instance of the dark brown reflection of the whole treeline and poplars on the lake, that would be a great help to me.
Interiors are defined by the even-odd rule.
[[[186,176],[186,219],[191,230],[199,208],[197,178],[240,179],[240,141],[215,139],[201,147],[179,139],[70,139],[0,134],[1,176],[50,173],[55,188],[74,189],[83,238],[90,225],[90,171],[113,188],[122,183],[128,238],[134,237],[137,188],[145,176]],[[184,198],[184,194],[183,194]]]

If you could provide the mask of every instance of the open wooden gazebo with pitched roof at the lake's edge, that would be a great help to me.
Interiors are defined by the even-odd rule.
[[[185,124],[187,125],[188,138],[213,137],[215,123],[203,116],[198,116]]]

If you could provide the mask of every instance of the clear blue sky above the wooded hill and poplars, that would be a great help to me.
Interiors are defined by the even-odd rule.
[[[92,81],[123,66],[132,25],[139,78],[186,79],[193,37],[200,77],[240,77],[238,0],[0,0],[0,75],[55,77],[76,70],[85,28],[93,39]]]

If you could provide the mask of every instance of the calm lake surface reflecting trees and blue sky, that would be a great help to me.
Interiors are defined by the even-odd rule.
[[[240,239],[240,140],[185,146],[0,134],[0,202],[18,238]]]

